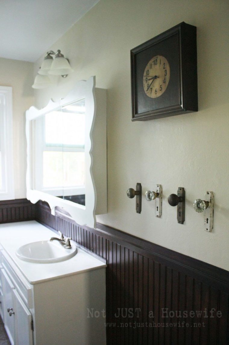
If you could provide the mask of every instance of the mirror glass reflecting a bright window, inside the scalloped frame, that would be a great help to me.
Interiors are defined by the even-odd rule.
[[[85,99],[33,121],[35,189],[85,205]]]

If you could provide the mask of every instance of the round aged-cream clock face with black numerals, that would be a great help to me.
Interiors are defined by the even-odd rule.
[[[143,88],[148,97],[160,97],[170,81],[170,65],[164,56],[154,56],[146,65]]]

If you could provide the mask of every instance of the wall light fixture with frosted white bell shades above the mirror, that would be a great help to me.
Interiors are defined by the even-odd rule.
[[[53,59],[53,56],[55,57]],[[49,75],[51,76],[62,76],[66,78],[67,75],[74,70],[69,65],[68,59],[64,57],[61,51],[58,49],[55,53],[50,50],[46,53],[44,61],[37,72],[38,74],[35,77],[34,83],[32,85],[33,89],[44,89],[48,86],[53,85]]]

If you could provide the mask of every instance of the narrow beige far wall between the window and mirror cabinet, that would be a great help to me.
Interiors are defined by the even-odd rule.
[[[34,103],[33,63],[0,58],[0,85],[12,87],[15,199],[26,198],[25,111]]]

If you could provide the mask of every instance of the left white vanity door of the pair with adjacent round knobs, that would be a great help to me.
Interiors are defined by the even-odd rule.
[[[6,274],[5,270],[1,270],[1,278],[2,278],[2,290],[3,290],[3,298],[4,298],[4,326],[8,337],[10,339],[11,345],[15,344],[15,330],[14,330],[14,310],[13,310],[13,294],[12,291],[14,286]]]

